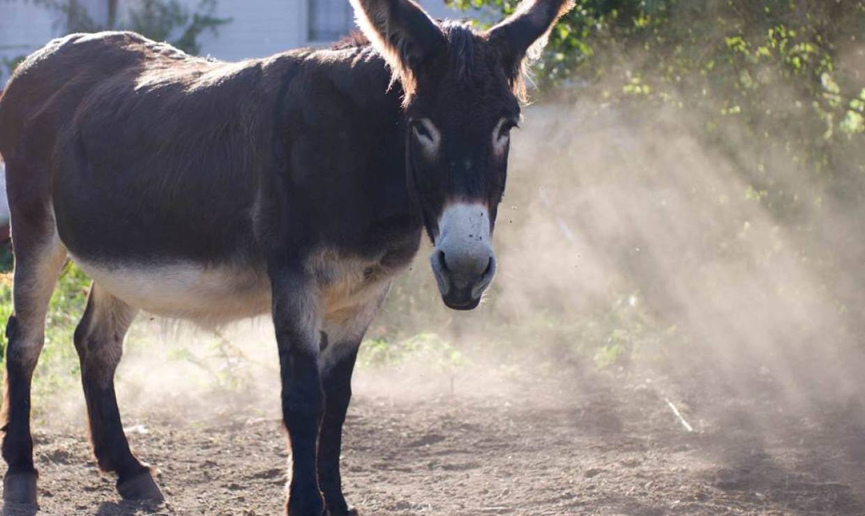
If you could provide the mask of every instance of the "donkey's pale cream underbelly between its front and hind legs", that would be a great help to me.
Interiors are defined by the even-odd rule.
[[[271,285],[251,267],[100,264],[75,258],[82,271],[125,303],[155,315],[217,326],[271,308]]]

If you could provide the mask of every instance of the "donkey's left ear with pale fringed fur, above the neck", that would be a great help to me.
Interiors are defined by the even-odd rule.
[[[439,25],[412,0],[350,0],[363,34],[384,56],[407,93],[426,61],[445,46]]]

